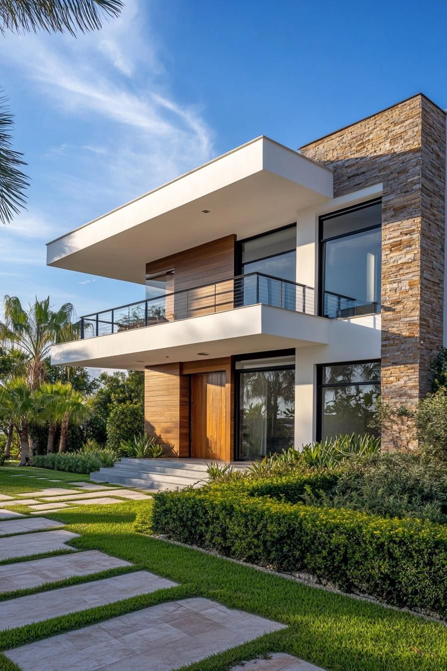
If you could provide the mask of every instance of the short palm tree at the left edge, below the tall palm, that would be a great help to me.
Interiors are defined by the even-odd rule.
[[[29,422],[39,411],[36,394],[24,378],[14,378],[0,387],[0,412],[11,418],[20,436],[20,466],[29,466]]]

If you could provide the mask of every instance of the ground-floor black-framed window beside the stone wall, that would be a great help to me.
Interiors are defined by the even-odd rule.
[[[319,437],[375,434],[369,424],[380,395],[380,362],[320,366],[318,377]]]

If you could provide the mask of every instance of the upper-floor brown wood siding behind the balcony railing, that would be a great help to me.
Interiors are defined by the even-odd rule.
[[[225,236],[146,264],[147,275],[174,268],[174,291],[194,290],[176,295],[175,319],[208,315],[233,307],[233,280],[229,278],[235,274],[235,244],[235,235]],[[229,281],[215,289],[214,286],[203,286],[222,280]]]

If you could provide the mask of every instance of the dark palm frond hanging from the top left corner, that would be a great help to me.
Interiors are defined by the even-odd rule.
[[[99,30],[103,15],[116,17],[122,7],[121,0],[2,0],[0,32],[68,31],[74,36]]]

